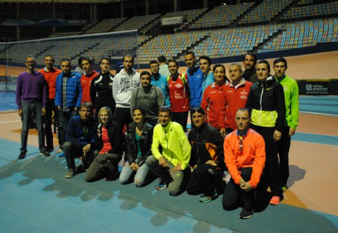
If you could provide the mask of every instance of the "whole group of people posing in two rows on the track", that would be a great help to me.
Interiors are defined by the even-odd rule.
[[[227,77],[224,65],[212,68],[208,56],[197,60],[187,51],[184,60],[186,73],[164,56],[138,73],[134,57],[126,54],[113,76],[108,57],[101,59],[100,73],[87,57],[72,71],[70,60],[62,59],[58,70],[48,55],[38,72],[34,57],[27,57],[16,88],[23,122],[19,159],[26,157],[32,115],[40,154],[50,155],[54,114],[66,178],[85,171],[87,182],[119,179],[142,187],[156,176],[156,189],[168,188],[172,196],[186,190],[201,193],[199,201],[207,203],[223,193],[223,208],[242,204],[242,219],[254,212],[256,189],[269,186],[270,204],[278,205],[287,189],[290,137],[299,119],[298,86],[285,74],[287,61],[274,60],[272,76],[267,61],[247,53],[245,70],[230,64]],[[192,129],[186,136],[189,113]],[[75,166],[75,158],[82,166]]]

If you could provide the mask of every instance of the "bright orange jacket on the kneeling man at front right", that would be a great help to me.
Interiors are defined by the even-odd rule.
[[[237,130],[229,133],[224,140],[224,162],[231,178],[240,184],[243,167],[252,167],[250,185],[256,188],[265,165],[265,143],[263,137],[253,129],[248,129],[242,137],[242,150],[240,151],[240,136]]]

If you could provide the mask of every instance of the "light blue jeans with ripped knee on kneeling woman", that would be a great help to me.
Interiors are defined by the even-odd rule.
[[[128,184],[130,183],[130,180],[132,178],[132,176],[134,176],[134,183],[136,185],[136,187],[142,187],[145,182],[146,179],[149,176],[149,167],[148,165],[146,165],[146,163],[142,164],[142,166],[140,166],[137,171],[134,171],[130,165],[129,162],[126,162],[126,164],[123,166],[122,171],[120,173],[120,182],[121,184]]]

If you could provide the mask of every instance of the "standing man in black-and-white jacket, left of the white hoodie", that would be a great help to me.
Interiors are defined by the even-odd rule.
[[[103,57],[100,61],[101,73],[92,80],[90,86],[90,99],[95,108],[95,118],[98,121],[98,111],[102,107],[109,107],[115,113],[115,100],[113,98],[114,76],[110,73],[110,59]]]

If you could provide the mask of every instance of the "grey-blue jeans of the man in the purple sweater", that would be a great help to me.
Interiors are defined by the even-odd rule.
[[[21,151],[27,151],[27,139],[28,139],[28,130],[29,130],[29,123],[32,120],[32,113],[35,113],[35,123],[36,128],[38,131],[38,139],[39,139],[39,150],[45,148],[45,133],[44,133],[44,127],[43,127],[43,117],[41,115],[42,110],[42,103],[33,102],[33,103],[27,103],[22,102],[22,122],[23,122],[23,128],[21,131]]]

